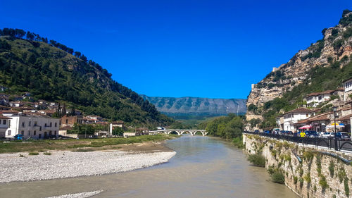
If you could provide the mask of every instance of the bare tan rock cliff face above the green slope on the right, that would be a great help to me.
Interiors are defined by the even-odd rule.
[[[316,66],[331,67],[335,61],[339,61],[339,67],[344,67],[352,54],[352,12],[344,11],[339,24],[322,30],[322,35],[323,38],[318,42],[298,51],[288,63],[273,68],[263,80],[252,85],[246,105],[260,107],[267,101],[282,97],[304,80],[309,80],[308,73]],[[247,113],[247,116],[256,117],[252,112]]]

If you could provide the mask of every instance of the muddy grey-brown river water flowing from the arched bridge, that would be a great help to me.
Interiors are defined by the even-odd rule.
[[[241,150],[212,137],[170,140],[168,163],[137,171],[0,184],[0,197],[50,197],[103,190],[94,197],[297,197],[250,166]]]

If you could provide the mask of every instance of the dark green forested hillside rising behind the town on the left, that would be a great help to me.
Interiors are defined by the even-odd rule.
[[[139,125],[172,122],[79,51],[32,32],[0,30],[0,85],[6,93],[65,101],[87,114]]]

